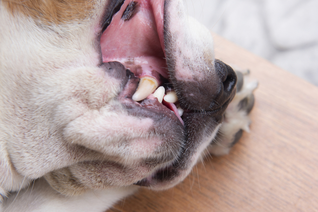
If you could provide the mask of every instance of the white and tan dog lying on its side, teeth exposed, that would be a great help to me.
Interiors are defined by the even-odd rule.
[[[5,212],[104,212],[248,131],[256,84],[182,0],[0,0]],[[231,103],[230,103],[231,102]]]

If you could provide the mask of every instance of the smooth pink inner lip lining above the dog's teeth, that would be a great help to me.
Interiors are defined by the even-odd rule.
[[[157,71],[166,78],[163,0],[135,0],[138,12],[125,21],[121,17],[130,2],[125,1],[100,38],[103,62],[118,61],[138,76],[158,79],[152,74]]]

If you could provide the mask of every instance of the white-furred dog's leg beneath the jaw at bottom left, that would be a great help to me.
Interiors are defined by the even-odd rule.
[[[45,180],[40,180],[31,183],[15,199],[4,202],[3,208],[10,212],[105,212],[105,209],[137,189],[137,186],[129,186],[90,190],[80,196],[66,197],[54,191]],[[36,204],[31,200],[36,200]]]

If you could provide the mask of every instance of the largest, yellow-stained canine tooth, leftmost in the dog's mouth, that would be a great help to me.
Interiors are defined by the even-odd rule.
[[[138,102],[146,99],[158,87],[158,82],[155,78],[145,76],[140,79],[138,88],[133,95],[133,100]]]

